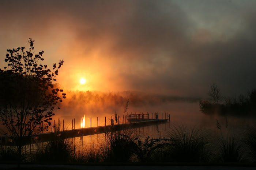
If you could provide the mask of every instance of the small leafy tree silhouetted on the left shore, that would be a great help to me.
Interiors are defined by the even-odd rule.
[[[56,104],[62,102],[66,95],[63,90],[54,89],[53,86],[64,61],[60,60],[58,65],[54,63],[53,70],[49,70],[47,65],[40,64],[44,60],[44,51],[34,55],[34,40],[29,39],[29,43],[30,48],[26,52],[25,47],[7,50],[9,54],[6,54],[4,60],[8,68],[4,67],[7,68],[5,71],[0,69],[3,100],[0,105],[0,121],[6,128],[1,129],[1,133],[11,136],[18,146],[18,167],[25,136],[48,130]]]

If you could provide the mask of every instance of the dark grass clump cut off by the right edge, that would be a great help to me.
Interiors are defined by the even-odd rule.
[[[256,127],[248,126],[243,129],[242,137],[242,143],[244,144],[248,161],[256,162]]]

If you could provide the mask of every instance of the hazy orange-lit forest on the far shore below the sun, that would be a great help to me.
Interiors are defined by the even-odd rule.
[[[55,87],[55,86],[54,86]],[[58,87],[58,85],[56,86]],[[168,96],[157,94],[146,94],[137,91],[122,91],[122,92],[100,92],[100,91],[68,91],[65,103],[69,106],[78,106],[81,103],[87,106],[90,104],[97,106],[116,106],[123,107],[123,104],[130,99],[130,104],[133,107],[140,106],[157,106],[168,102],[198,102],[199,98]]]

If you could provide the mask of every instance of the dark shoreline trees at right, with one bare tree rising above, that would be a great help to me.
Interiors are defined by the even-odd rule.
[[[233,97],[221,95],[217,84],[213,83],[208,91],[209,99],[199,101],[200,111],[204,114],[233,116],[256,116],[256,90]]]

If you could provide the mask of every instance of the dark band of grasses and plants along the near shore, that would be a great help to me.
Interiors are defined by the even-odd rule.
[[[219,129],[219,130],[218,130]],[[234,135],[226,122],[223,129],[216,122],[217,133],[199,126],[174,124],[168,138],[146,137],[142,142],[132,129],[106,133],[105,140],[76,148],[72,139],[56,131],[52,141],[37,146],[23,162],[32,163],[125,163],[125,162],[193,162],[193,163],[255,163],[256,127],[248,126]],[[0,147],[0,161],[17,160],[14,146]]]

